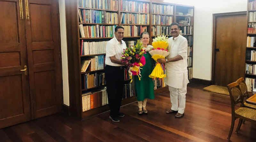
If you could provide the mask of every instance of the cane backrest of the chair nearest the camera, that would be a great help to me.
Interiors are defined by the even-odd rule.
[[[240,105],[243,105],[244,97],[240,91],[239,83],[237,81],[228,84],[227,87],[228,87],[228,92],[229,92],[230,101],[231,101],[231,109],[233,114],[235,113],[236,104],[240,103]]]

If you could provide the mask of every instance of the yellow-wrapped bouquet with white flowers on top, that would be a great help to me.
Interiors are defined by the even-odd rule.
[[[152,46],[154,47],[152,50],[149,51],[149,54],[152,56],[152,58],[156,61],[156,66],[154,70],[149,75],[150,78],[165,78],[166,74],[164,74],[165,71],[165,65],[160,64],[157,62],[157,59],[159,58],[165,58],[170,54],[168,50],[168,37],[165,35],[157,36],[153,39]]]

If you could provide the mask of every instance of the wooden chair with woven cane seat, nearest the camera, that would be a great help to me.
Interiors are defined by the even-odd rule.
[[[231,127],[228,134],[228,140],[231,137],[232,131],[234,129],[235,120],[239,118],[239,123],[236,128],[236,133],[239,131],[243,120],[250,121],[252,123],[256,123],[256,109],[252,108],[246,108],[244,107],[244,97],[240,91],[239,83],[233,82],[231,84],[228,84],[228,91],[231,101]],[[240,108],[235,110],[236,104],[240,103]]]

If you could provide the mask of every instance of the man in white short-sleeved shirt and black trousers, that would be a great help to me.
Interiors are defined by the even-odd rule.
[[[109,118],[113,122],[120,122],[119,117],[124,117],[124,114],[119,112],[124,88],[124,65],[126,65],[120,60],[123,49],[126,49],[123,37],[124,28],[116,26],[115,37],[108,41],[106,46],[105,78],[110,109]]]

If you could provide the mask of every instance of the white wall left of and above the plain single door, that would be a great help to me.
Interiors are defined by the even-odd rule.
[[[195,6],[193,78],[212,80],[213,14],[246,11],[247,0],[165,0]]]

